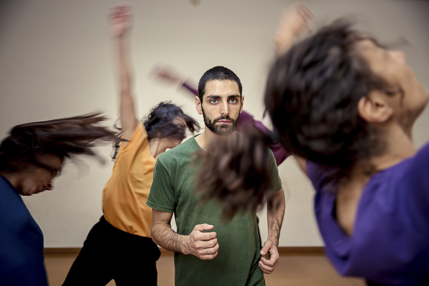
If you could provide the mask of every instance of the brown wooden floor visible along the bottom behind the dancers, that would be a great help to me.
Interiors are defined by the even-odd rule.
[[[50,286],[60,286],[77,256],[75,253],[45,253],[45,265]],[[174,285],[172,253],[163,251],[157,261],[158,285]],[[267,286],[364,286],[363,280],[338,276],[321,253],[282,253],[280,263],[270,275],[265,275]],[[110,281],[108,286],[115,286]]]

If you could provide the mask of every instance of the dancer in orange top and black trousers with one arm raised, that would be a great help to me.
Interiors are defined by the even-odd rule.
[[[186,128],[198,124],[174,104],[160,103],[148,118],[136,118],[130,90],[129,32],[131,10],[127,4],[110,12],[112,38],[118,45],[122,138],[116,146],[112,176],[103,190],[103,213],[91,229],[63,285],[157,285],[156,260],[160,256],[151,240],[152,210],[146,199],[158,155],[186,137]]]

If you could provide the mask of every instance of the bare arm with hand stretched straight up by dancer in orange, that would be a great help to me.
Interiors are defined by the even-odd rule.
[[[124,139],[130,139],[138,125],[133,94],[131,93],[132,80],[128,58],[130,55],[130,32],[132,28],[131,16],[131,5],[125,3],[113,6],[109,13],[110,32],[118,56],[119,110]]]

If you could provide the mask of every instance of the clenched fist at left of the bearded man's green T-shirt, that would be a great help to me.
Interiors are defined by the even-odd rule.
[[[185,244],[187,251],[184,254],[192,254],[199,259],[215,258],[219,249],[216,232],[203,232],[210,229],[213,229],[213,225],[206,223],[195,225],[193,231],[188,235],[187,243]]]

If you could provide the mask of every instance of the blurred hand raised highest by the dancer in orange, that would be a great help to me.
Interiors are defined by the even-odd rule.
[[[113,38],[124,37],[131,30],[132,14],[131,4],[121,3],[110,8],[108,17]]]

